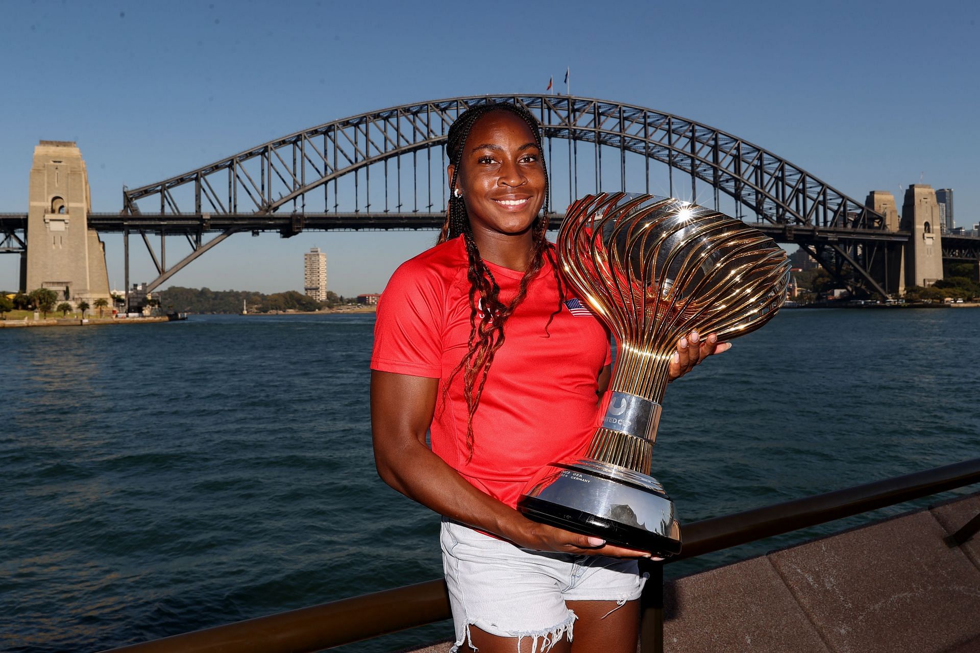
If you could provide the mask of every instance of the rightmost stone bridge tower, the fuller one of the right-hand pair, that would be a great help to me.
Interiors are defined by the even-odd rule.
[[[943,278],[943,240],[936,191],[912,184],[902,205],[902,229],[910,231],[906,248],[906,283],[931,286]]]

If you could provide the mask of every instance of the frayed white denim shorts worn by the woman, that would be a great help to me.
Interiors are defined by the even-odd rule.
[[[633,559],[520,548],[445,518],[439,539],[456,627],[451,653],[464,641],[472,648],[471,626],[516,637],[518,652],[529,638],[530,653],[547,653],[564,634],[571,640],[577,617],[565,601],[613,601],[612,613],[640,598],[646,582]]]

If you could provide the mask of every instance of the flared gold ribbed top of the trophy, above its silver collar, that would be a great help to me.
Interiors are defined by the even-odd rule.
[[[789,284],[786,253],[771,238],[673,198],[586,196],[568,208],[557,247],[565,276],[616,339],[610,390],[658,403],[682,336],[754,331]]]

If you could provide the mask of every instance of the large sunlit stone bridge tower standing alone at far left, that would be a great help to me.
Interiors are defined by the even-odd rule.
[[[88,173],[70,141],[41,141],[30,168],[25,291],[49,288],[59,302],[109,298],[105,245],[88,229]]]

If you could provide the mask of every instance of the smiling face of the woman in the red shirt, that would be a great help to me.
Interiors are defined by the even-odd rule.
[[[473,231],[526,233],[544,203],[546,185],[530,127],[510,112],[491,112],[473,124],[464,148],[456,185]]]

